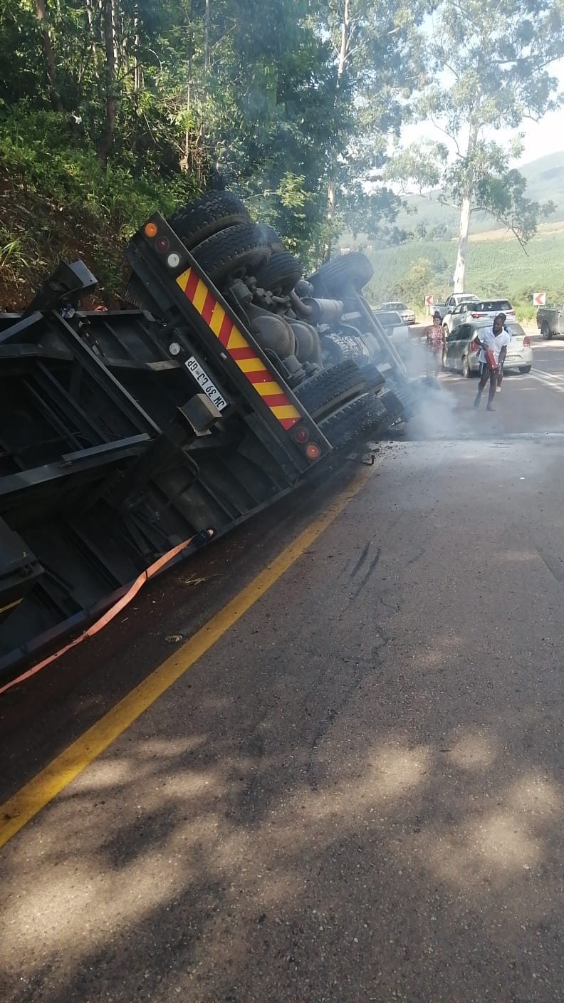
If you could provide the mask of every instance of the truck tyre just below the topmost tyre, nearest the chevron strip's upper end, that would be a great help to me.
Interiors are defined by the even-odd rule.
[[[269,246],[251,223],[208,237],[192,253],[212,282],[221,282],[228,275],[241,277],[249,269],[256,273],[270,258]]]

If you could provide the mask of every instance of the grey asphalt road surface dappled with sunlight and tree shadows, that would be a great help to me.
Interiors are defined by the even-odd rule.
[[[4,796],[342,507],[6,844],[3,1001],[563,998],[564,343],[475,389],[7,695]]]

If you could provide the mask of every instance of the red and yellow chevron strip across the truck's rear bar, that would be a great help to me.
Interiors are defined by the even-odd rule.
[[[255,349],[249,344],[234,321],[231,320],[220,303],[212,296],[207,285],[192,268],[179,275],[177,282],[183,293],[188,296],[193,307],[206,321],[216,338],[221,341],[242,373],[253,384],[265,404],[278,418],[284,428],[291,428],[301,418],[300,412],[288,400],[280,384],[258,358]]]

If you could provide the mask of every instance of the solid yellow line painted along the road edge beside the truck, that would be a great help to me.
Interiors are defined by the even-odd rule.
[[[25,783],[12,797],[0,804],[0,847],[3,847],[8,840],[15,835],[67,783],[70,783],[81,770],[85,769],[115,738],[122,734],[270,589],[271,585],[343,512],[347,503],[358,493],[366,479],[367,471],[361,470],[344,491],[328,505],[323,515],[306,527],[294,542],[274,558],[223,610],[178,648],[130,693],[127,693],[119,703],[108,710],[99,721],[96,721],[28,783]]]

